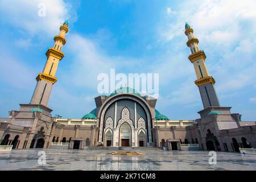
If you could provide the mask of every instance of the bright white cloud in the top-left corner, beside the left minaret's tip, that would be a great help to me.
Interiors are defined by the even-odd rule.
[[[46,5],[46,16],[38,15],[40,3]],[[58,31],[60,23],[68,18],[73,22],[76,14],[72,6],[63,0],[0,1],[1,22],[11,24],[26,34],[52,36]]]

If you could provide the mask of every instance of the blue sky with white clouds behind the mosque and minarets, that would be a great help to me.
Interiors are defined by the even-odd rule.
[[[46,16],[38,16],[39,3]],[[48,106],[64,118],[94,109],[97,75],[159,73],[156,108],[170,119],[196,119],[203,109],[188,60],[184,22],[194,28],[222,106],[256,118],[256,2],[0,0],[0,117],[30,102],[59,26],[69,19]]]

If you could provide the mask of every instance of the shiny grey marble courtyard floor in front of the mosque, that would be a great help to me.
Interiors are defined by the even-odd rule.
[[[0,170],[253,170],[256,155],[217,152],[217,164],[210,165],[208,151],[146,151],[146,155],[112,155],[105,150],[49,148],[46,164],[38,164],[38,152],[0,152]]]

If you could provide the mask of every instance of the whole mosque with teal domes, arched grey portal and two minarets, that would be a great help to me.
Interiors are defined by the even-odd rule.
[[[36,87],[29,104],[20,104],[19,110],[9,111],[9,118],[0,118],[0,144],[13,149],[67,147],[70,149],[167,147],[168,150],[214,150],[238,152],[239,148],[256,147],[255,122],[241,121],[241,115],[231,113],[218,101],[215,80],[209,75],[205,53],[193,28],[185,24],[188,59],[196,72],[203,110],[199,119],[172,120],[155,109],[156,99],[142,96],[129,87],[112,94],[94,98],[95,109],[81,119],[52,117],[47,104],[50,98],[60,60],[61,49],[67,42],[68,21],[60,26],[55,44],[46,52],[47,61],[36,77]]]

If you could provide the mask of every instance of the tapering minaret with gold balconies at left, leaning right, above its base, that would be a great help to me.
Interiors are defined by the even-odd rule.
[[[60,34],[56,35],[54,38],[54,46],[49,48],[46,52],[46,65],[44,66],[43,73],[39,73],[36,77],[38,83],[36,84],[30,104],[41,104],[47,106],[52,85],[57,81],[55,74],[59,61],[64,57],[64,53],[61,52],[61,49],[66,43],[65,34],[67,33],[68,21],[66,20],[63,25],[60,26]]]

